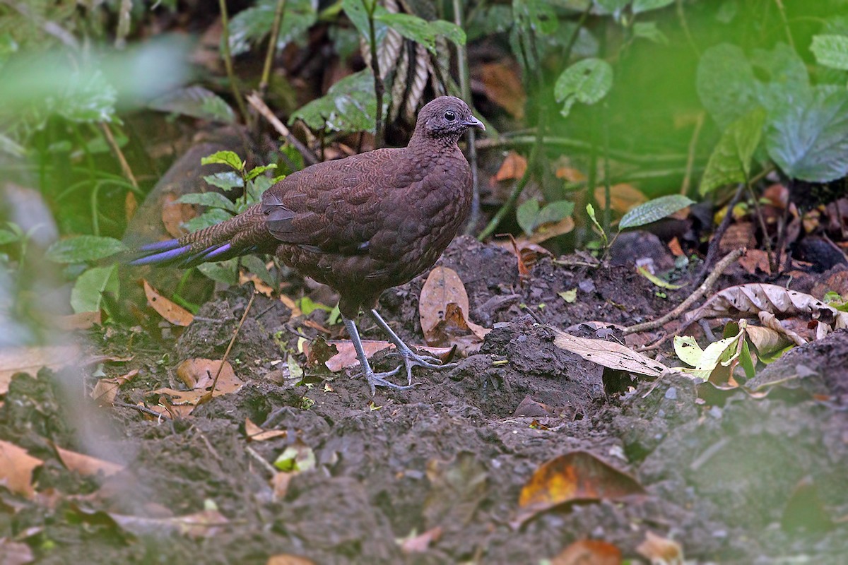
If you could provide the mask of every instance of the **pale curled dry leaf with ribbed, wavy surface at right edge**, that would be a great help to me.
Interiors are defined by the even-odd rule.
[[[788,291],[783,286],[760,283],[731,286],[719,291],[703,306],[686,313],[684,319],[691,324],[705,318],[760,317],[762,312],[782,317],[810,316],[813,320],[828,324],[831,330],[848,328],[848,313],[828,306],[815,296]]]

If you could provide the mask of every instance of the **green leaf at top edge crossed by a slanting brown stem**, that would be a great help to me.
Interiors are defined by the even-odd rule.
[[[313,0],[286,0],[286,9],[280,23],[276,47],[287,43],[310,29],[317,18],[317,2]],[[271,33],[274,24],[276,0],[259,0],[253,8],[236,14],[230,21],[230,51],[233,55],[247,53],[251,44],[258,44]]]

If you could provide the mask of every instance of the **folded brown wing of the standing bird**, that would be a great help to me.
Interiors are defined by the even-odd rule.
[[[268,231],[316,252],[369,252],[381,229],[381,200],[416,182],[402,149],[380,149],[318,163],[290,174],[262,195]]]

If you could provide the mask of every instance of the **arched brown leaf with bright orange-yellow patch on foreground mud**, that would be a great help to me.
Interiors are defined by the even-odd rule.
[[[642,494],[642,485],[630,475],[587,451],[572,451],[544,463],[522,487],[517,523],[566,502],[615,500]]]

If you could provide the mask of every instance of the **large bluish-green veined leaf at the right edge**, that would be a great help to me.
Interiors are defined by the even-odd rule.
[[[769,115],[768,155],[795,179],[828,182],[848,174],[848,91],[818,86],[812,97]]]

